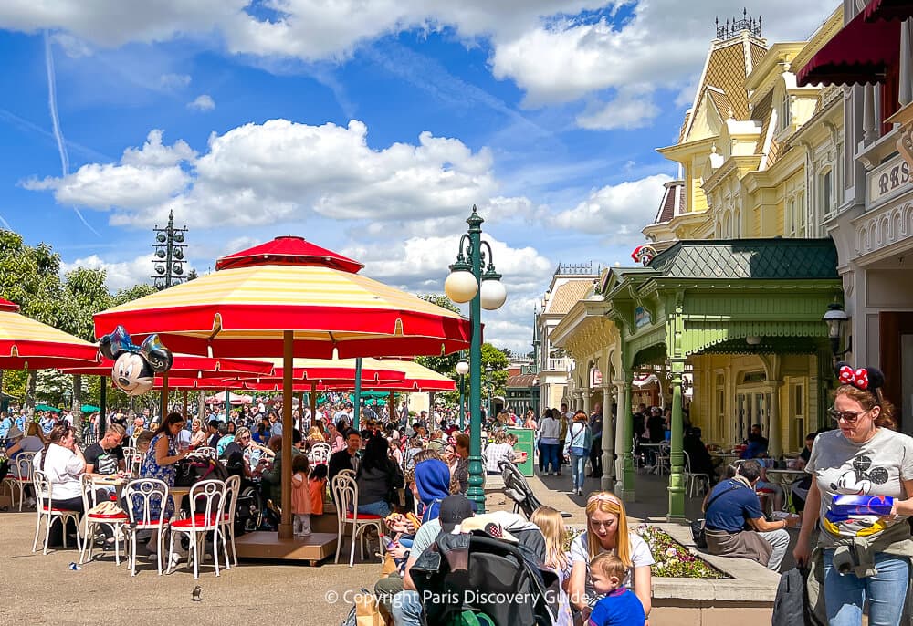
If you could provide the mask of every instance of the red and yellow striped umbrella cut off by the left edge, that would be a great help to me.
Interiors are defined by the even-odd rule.
[[[99,360],[98,346],[26,318],[19,305],[0,298],[0,369],[44,370]]]

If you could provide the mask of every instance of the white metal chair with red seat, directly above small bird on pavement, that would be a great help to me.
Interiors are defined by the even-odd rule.
[[[226,569],[228,565],[228,549],[225,546],[225,537],[222,535],[222,516],[226,507],[226,484],[221,480],[201,480],[190,488],[190,516],[171,523],[171,541],[168,547],[168,573],[171,573],[171,563],[174,554],[174,539],[179,534],[185,534],[190,539],[188,560],[194,559],[194,579],[200,578],[200,561],[203,557],[203,545],[206,533],[213,534],[213,561],[215,575],[219,575],[219,540],[225,552]]]

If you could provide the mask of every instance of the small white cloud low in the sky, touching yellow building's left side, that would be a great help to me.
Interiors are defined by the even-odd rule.
[[[610,235],[614,244],[640,241],[645,224],[656,216],[663,197],[663,184],[672,180],[666,174],[655,174],[636,181],[607,185],[572,209],[549,217],[556,228],[585,233]]]

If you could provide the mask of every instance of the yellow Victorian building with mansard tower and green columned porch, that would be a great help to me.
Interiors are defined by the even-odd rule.
[[[842,289],[815,215],[843,188],[843,98],[797,87],[790,68],[842,22],[836,11],[809,41],[770,47],[760,22],[718,27],[677,142],[659,149],[680,177],[644,228],[644,266],[603,273],[552,332],[574,356],[575,384],[597,368],[618,399],[614,431],[603,412],[603,452],[619,451],[624,497],[635,495],[634,381],[657,375],[673,410],[670,517],[684,511],[686,416],[726,448],[760,423],[771,455],[798,450],[823,422],[832,360],[822,317]]]

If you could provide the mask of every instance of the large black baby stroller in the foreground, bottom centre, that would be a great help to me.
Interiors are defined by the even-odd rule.
[[[540,569],[534,548],[525,545],[522,533],[515,535],[517,545],[484,533],[438,535],[410,569],[425,624],[461,623],[461,615],[471,611],[487,616],[495,626],[553,626],[555,608],[548,600],[556,594],[547,589],[557,589],[558,577]],[[538,539],[541,542],[541,533]],[[460,549],[468,551],[467,569],[453,571],[445,555]]]

